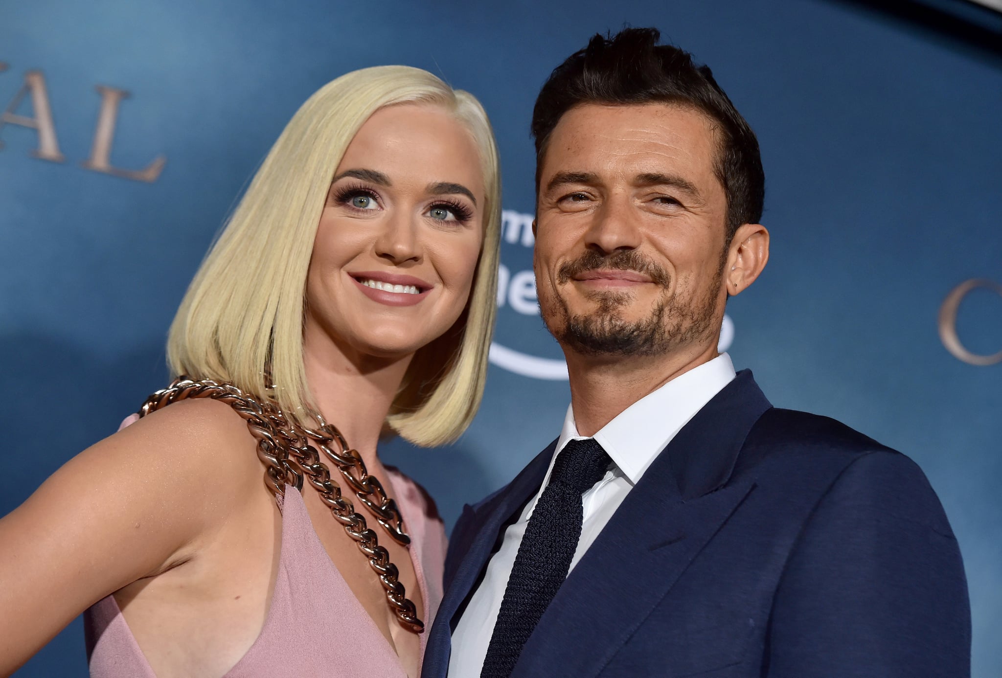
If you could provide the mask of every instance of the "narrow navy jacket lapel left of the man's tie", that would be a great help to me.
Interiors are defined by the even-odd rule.
[[[452,652],[452,632],[459,621],[457,612],[463,607],[474,585],[479,581],[480,574],[487,566],[487,561],[490,560],[494,545],[502,531],[517,519],[517,513],[525,503],[539,492],[555,447],[556,441],[553,441],[495,497],[489,498],[476,509],[464,509],[464,513],[467,511],[474,513],[468,519],[479,528],[473,535],[469,548],[462,557],[435,615],[435,622],[428,637],[426,665],[422,669],[422,676],[446,675],[449,655]],[[462,548],[462,545],[459,546]]]

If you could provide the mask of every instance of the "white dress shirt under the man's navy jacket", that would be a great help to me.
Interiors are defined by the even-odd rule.
[[[571,570],[661,450],[733,378],[734,367],[730,358],[721,354],[641,398],[594,435],[595,441],[608,453],[613,464],[605,477],[581,497],[584,520],[570,563]],[[550,481],[553,462],[568,441],[584,438],[578,436],[574,411],[568,406],[563,430],[539,492],[525,505],[519,519],[505,531],[501,548],[488,563],[480,587],[470,599],[452,634],[449,678],[475,678],[480,675],[518,547],[539,496]]]

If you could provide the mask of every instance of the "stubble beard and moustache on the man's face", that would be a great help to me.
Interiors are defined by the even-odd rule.
[[[558,280],[566,282],[574,272],[593,268],[632,269],[647,273],[655,284],[667,290],[670,278],[663,269],[641,259],[636,252],[621,252],[609,257],[586,254],[577,261],[561,266]],[[651,312],[637,320],[626,320],[622,309],[632,300],[629,292],[602,291],[589,294],[597,303],[594,311],[573,314],[566,299],[555,294],[543,308],[543,320],[550,333],[566,349],[591,357],[649,357],[670,353],[680,346],[702,338],[712,331],[717,297],[723,280],[721,258],[705,294],[692,302],[679,300],[674,294],[658,301]],[[549,312],[548,312],[549,311]]]

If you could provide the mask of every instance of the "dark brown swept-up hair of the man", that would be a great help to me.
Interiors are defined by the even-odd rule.
[[[729,242],[742,223],[758,223],[766,195],[759,140],[707,66],[672,45],[658,45],[656,28],[625,28],[615,36],[596,34],[588,46],[553,69],[536,98],[532,136],[536,141],[536,190],[550,134],[561,116],[580,104],[668,103],[690,106],[713,122],[719,147],[713,173],[727,198]]]

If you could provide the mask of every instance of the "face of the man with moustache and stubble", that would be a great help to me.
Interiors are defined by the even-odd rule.
[[[540,171],[533,267],[565,350],[653,356],[715,340],[726,197],[710,121],[688,107],[586,104]]]

